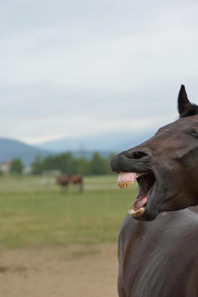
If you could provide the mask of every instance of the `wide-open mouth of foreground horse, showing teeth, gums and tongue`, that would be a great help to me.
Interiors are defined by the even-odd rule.
[[[128,213],[134,218],[143,215],[150,189],[155,183],[155,176],[152,172],[149,173],[136,173],[136,172],[119,172],[118,187],[124,189],[134,183],[135,179],[138,182],[138,192],[135,201],[132,204],[133,209]]]

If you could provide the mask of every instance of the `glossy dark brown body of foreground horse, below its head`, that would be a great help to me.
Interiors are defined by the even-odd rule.
[[[162,212],[152,222],[125,218],[118,239],[120,297],[198,296],[198,215]]]

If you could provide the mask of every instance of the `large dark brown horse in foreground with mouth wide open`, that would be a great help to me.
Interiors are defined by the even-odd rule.
[[[139,190],[119,233],[120,297],[198,296],[198,106],[111,159],[118,187]],[[193,208],[188,208],[194,206]]]

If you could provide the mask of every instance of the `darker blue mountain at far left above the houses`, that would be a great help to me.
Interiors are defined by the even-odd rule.
[[[30,164],[36,155],[46,157],[50,152],[12,139],[0,138],[0,162],[20,158],[24,165]]]

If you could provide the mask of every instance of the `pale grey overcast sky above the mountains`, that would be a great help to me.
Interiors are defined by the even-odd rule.
[[[0,136],[154,131],[198,103],[198,2],[2,0]]]

